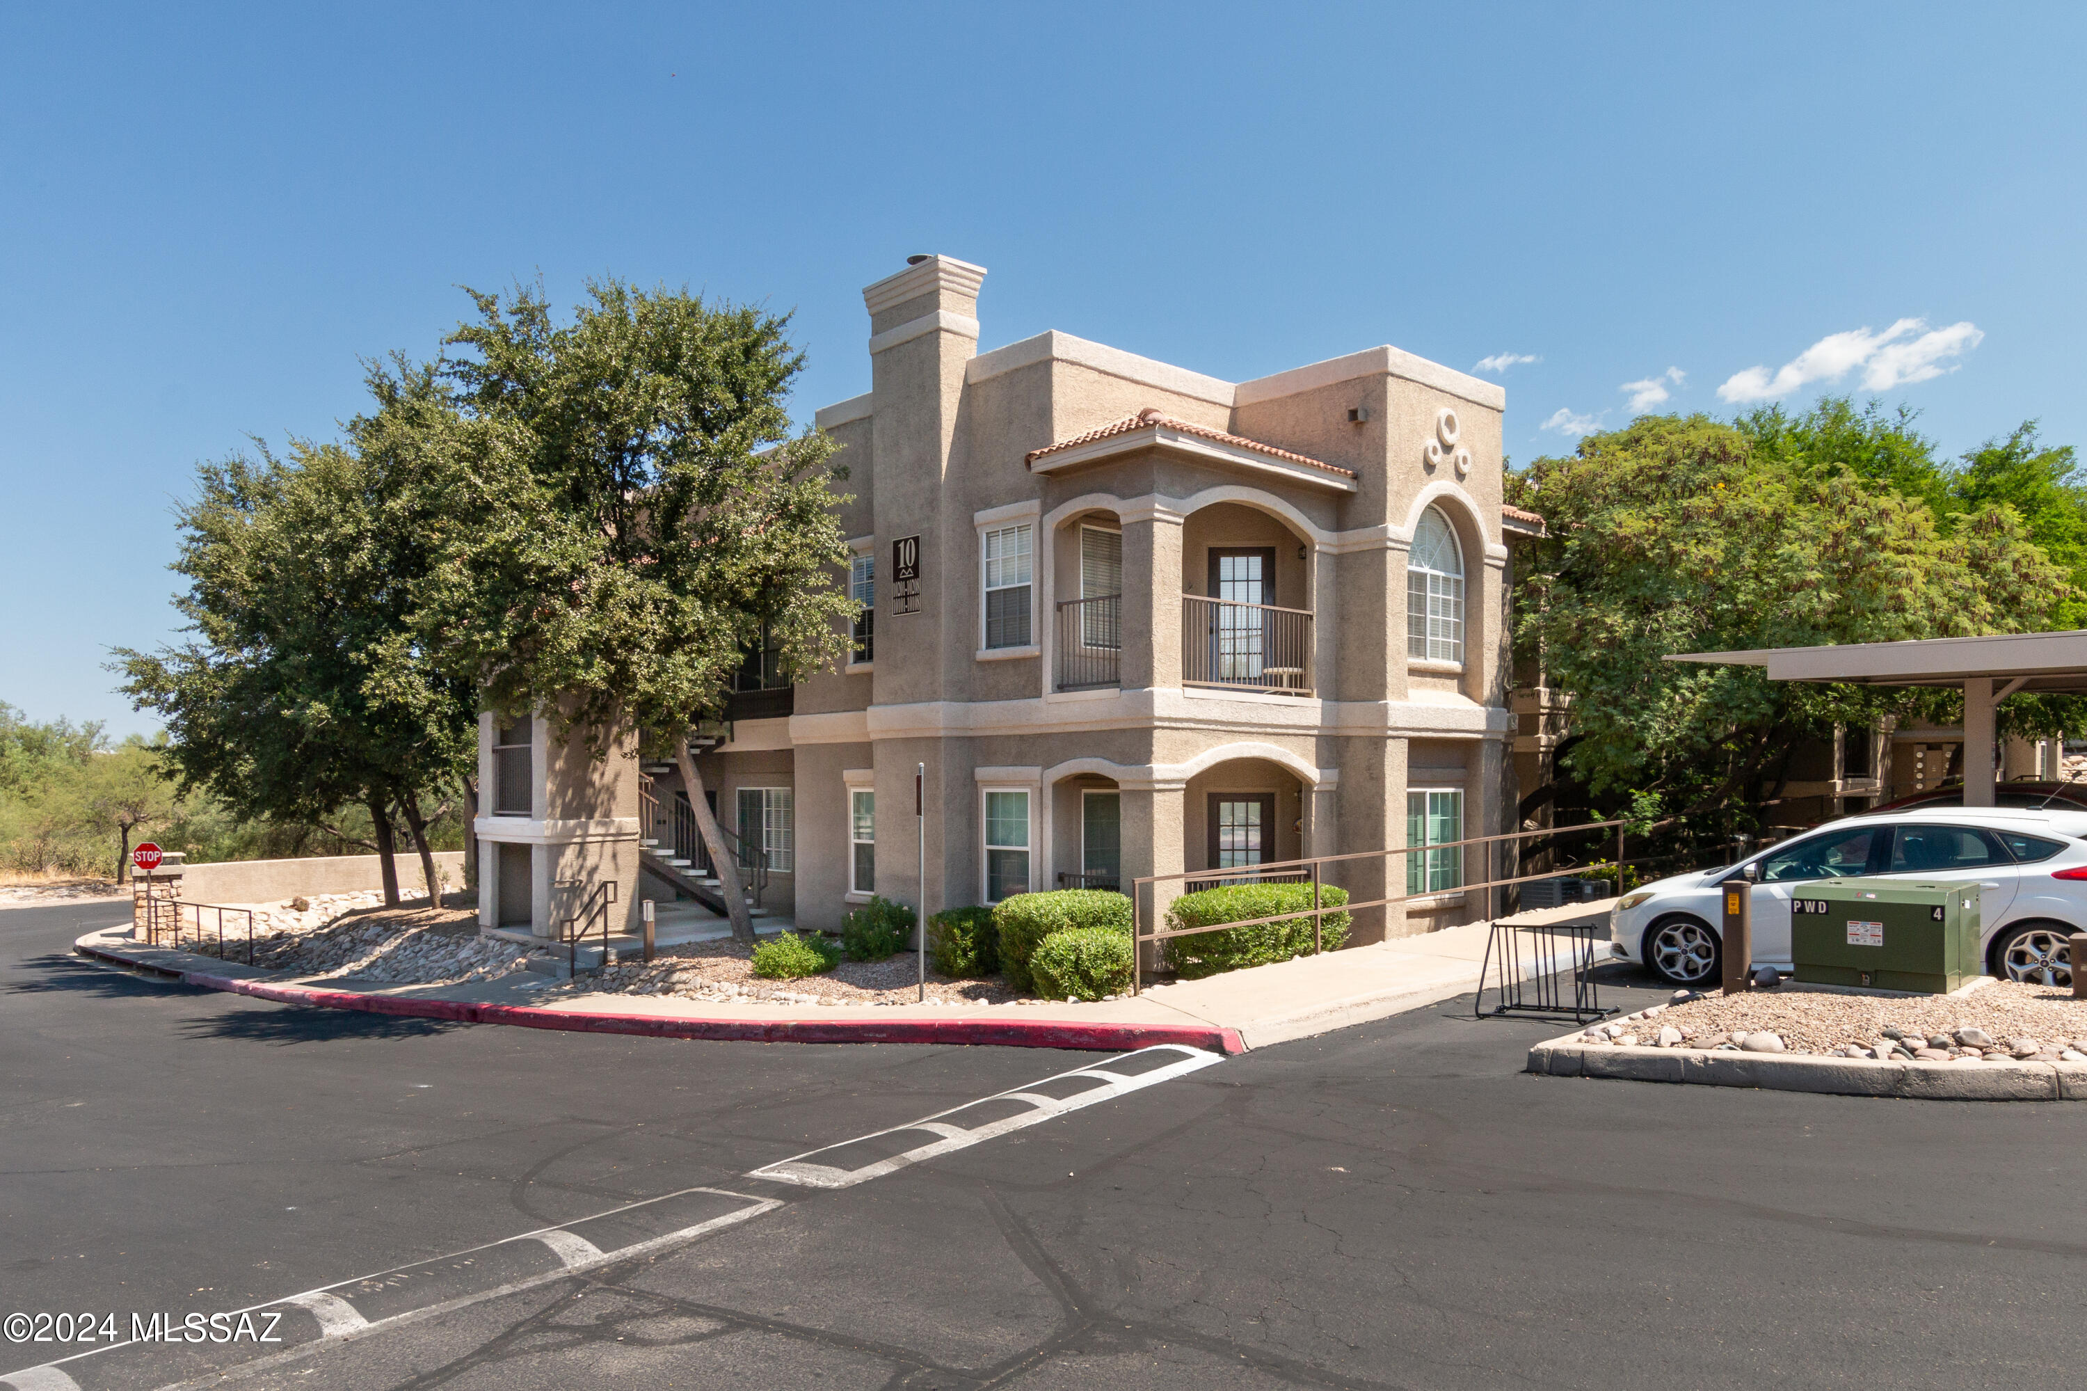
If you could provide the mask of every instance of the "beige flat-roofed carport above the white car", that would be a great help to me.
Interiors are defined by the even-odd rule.
[[[1905,643],[1682,652],[1670,662],[1766,666],[1770,681],[1964,687],[1964,806],[1995,802],[1993,710],[2016,691],[2087,696],[2087,631]]]

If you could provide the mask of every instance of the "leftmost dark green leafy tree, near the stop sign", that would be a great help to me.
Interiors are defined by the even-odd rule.
[[[194,637],[117,654],[125,693],[167,721],[184,792],[305,823],[359,802],[392,904],[397,821],[436,900],[426,800],[453,794],[476,750],[470,681],[436,670],[407,629],[428,553],[405,524],[411,482],[380,453],[303,441],[284,459],[200,468],[173,566]]]

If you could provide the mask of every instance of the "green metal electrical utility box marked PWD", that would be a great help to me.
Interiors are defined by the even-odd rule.
[[[1818,986],[1947,994],[1985,973],[1976,883],[1820,879],[1791,896],[1791,965]]]

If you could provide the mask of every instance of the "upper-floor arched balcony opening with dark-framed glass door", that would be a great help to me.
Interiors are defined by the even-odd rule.
[[[1313,545],[1288,520],[1217,501],[1181,524],[1181,681],[1309,693]]]

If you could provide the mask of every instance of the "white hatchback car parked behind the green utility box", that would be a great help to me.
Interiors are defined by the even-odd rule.
[[[1738,865],[1632,890],[1609,919],[1611,952],[1676,986],[1716,984],[1718,886],[1734,873],[1753,879],[1755,967],[1791,969],[1791,898],[1803,883],[1878,875],[1976,883],[1987,971],[2070,986],[2066,938],[2087,929],[2087,810],[1916,806],[1828,821]]]

